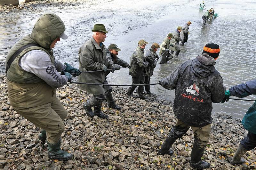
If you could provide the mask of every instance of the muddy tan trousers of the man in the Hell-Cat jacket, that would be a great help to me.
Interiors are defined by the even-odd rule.
[[[203,127],[193,127],[185,124],[179,119],[176,119],[176,124],[172,127],[168,137],[182,138],[182,136],[188,131],[190,127],[194,132],[194,146],[198,147],[199,149],[204,148],[210,138],[211,124]]]

